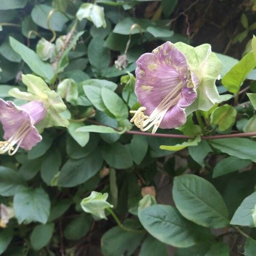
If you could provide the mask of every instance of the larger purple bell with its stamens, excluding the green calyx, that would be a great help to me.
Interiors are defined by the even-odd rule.
[[[131,122],[147,131],[153,127],[175,128],[186,122],[185,108],[197,97],[198,78],[185,55],[171,42],[145,53],[136,61],[135,93],[142,105]],[[145,114],[144,114],[145,111]]]

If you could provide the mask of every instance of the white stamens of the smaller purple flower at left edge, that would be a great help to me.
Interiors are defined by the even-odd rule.
[[[10,156],[14,155],[19,149],[21,143],[30,131],[30,125],[28,122],[23,122],[20,128],[6,141],[0,141],[0,154],[4,154],[8,151]],[[17,144],[16,148],[14,145]]]

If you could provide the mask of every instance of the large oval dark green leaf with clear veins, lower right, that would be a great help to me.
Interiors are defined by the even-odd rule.
[[[181,175],[174,178],[172,191],[179,212],[204,227],[226,227],[227,207],[215,187],[202,177]]]

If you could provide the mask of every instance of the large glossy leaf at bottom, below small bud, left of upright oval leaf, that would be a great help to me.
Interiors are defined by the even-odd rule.
[[[200,236],[206,236],[203,227],[186,220],[170,205],[144,208],[138,212],[138,217],[151,236],[175,247],[192,246],[200,241]]]

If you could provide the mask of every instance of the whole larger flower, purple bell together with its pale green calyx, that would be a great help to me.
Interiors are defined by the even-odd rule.
[[[219,99],[215,86],[218,75],[215,73],[220,73],[220,61],[212,56],[210,46],[205,44],[203,46],[207,46],[208,52],[205,51],[206,47],[203,47],[204,51],[195,51],[195,54],[192,54],[195,62],[193,63],[189,52],[197,47],[191,47],[192,49],[189,48],[187,51],[183,45],[186,44],[177,44],[181,50],[176,44],[166,42],[152,53],[143,54],[136,61],[135,93],[142,107],[137,111],[131,111],[134,113],[131,122],[134,122],[141,131],[153,127],[154,134],[158,127],[176,128],[183,125],[188,114],[186,109],[198,98],[198,87],[201,84],[207,83],[209,88],[206,88],[205,95],[200,90],[200,103],[204,97],[206,101],[211,102],[209,105],[213,105]],[[208,106],[203,110],[206,108]],[[198,102],[193,111],[197,109],[202,109]]]

